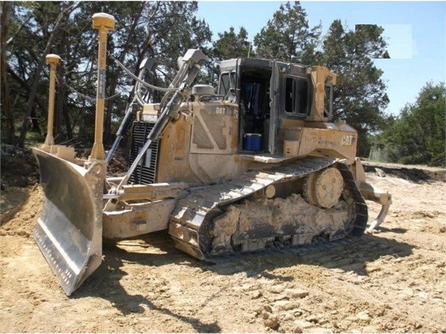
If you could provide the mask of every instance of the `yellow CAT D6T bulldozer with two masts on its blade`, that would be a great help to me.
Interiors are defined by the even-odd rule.
[[[322,66],[229,59],[219,64],[214,88],[193,85],[208,59],[191,49],[179,57],[170,86],[161,88],[149,84],[157,65],[146,59],[133,103],[105,152],[105,55],[114,17],[96,13],[93,26],[98,85],[91,155],[75,158],[73,147],[54,144],[60,60],[54,54],[47,56],[47,139],[33,149],[45,195],[34,238],[68,296],[101,265],[103,239],[168,230],[179,250],[212,261],[362,236],[366,199],[382,205],[369,229],[385,219],[391,195],[366,182],[357,131],[332,121],[337,75]],[[165,91],[161,102],[148,102],[151,89]],[[128,171],[107,176],[126,132]]]

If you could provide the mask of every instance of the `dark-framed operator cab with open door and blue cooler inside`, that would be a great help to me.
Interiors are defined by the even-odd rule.
[[[239,105],[239,153],[281,154],[280,120],[304,125],[311,87],[306,66],[265,59],[222,61],[218,95]]]

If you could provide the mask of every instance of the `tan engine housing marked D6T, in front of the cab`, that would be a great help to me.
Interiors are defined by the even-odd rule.
[[[158,182],[200,185],[239,174],[238,106],[221,102],[189,106],[193,114],[172,121],[161,138]]]

